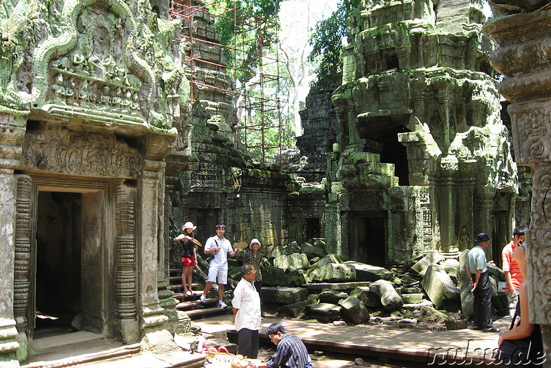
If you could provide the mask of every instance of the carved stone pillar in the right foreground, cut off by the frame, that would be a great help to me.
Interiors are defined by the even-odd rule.
[[[530,322],[541,324],[551,367],[551,201],[549,197],[551,39],[549,1],[495,1],[495,19],[484,32],[497,43],[490,60],[506,79],[499,92],[510,101],[514,148],[519,165],[532,171],[532,222],[526,234]]]

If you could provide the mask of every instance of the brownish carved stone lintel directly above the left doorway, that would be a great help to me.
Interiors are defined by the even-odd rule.
[[[137,150],[112,135],[31,130],[23,147],[23,167],[63,174],[135,178],[143,161]]]

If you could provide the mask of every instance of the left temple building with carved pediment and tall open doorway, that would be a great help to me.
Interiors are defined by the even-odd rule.
[[[181,24],[150,8],[0,7],[0,360],[10,367],[30,352],[38,314],[79,316],[83,330],[125,343],[177,323],[158,284],[165,157],[187,130],[189,83]]]

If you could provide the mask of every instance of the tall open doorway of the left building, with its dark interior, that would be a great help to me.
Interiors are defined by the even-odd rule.
[[[108,333],[105,190],[37,186],[33,338],[78,329]],[[35,317],[36,316],[36,317]]]

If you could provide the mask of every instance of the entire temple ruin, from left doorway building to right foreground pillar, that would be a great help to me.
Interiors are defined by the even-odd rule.
[[[506,48],[492,66],[508,78],[511,134],[483,1],[363,1],[342,85],[308,97],[300,153],[280,167],[236,139],[220,35],[194,12],[202,5],[3,1],[1,362],[28,357],[39,311],[80,314],[85,331],[124,343],[189,329],[167,289],[185,221],[201,242],[225,223],[235,242],[323,238],[327,253],[381,267],[434,249],[457,257],[479,232],[497,261],[514,225],[530,225],[531,306],[551,324],[547,79],[524,77],[534,60],[544,76],[548,60],[509,56],[545,43],[534,30],[551,10],[486,25]],[[192,14],[171,15],[180,10]],[[194,63],[191,31],[208,41]],[[509,41],[523,33],[533,40]]]

